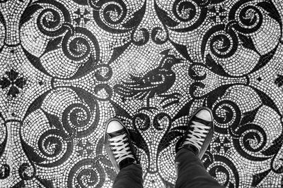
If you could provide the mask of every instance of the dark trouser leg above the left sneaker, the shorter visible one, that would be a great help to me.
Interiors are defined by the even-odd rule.
[[[142,170],[140,165],[132,164],[122,168],[118,173],[113,188],[143,187]]]

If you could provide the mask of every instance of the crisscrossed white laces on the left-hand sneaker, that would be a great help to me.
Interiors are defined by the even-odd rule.
[[[112,137],[109,139],[109,141],[112,152],[118,164],[125,158],[134,158],[131,149],[129,149],[127,134],[121,134],[120,136]]]

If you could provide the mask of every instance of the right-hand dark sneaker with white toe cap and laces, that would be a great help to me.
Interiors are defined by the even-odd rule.
[[[201,107],[192,114],[178,150],[189,149],[201,159],[212,140],[213,133],[212,111],[209,108]]]

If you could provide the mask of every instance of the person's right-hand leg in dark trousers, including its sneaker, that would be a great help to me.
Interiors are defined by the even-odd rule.
[[[181,146],[175,156],[178,179],[176,188],[219,188],[220,184],[207,173],[200,158],[207,150],[214,132],[212,112],[199,108],[190,118]]]

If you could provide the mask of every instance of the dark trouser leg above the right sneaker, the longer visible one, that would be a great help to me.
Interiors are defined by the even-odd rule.
[[[207,173],[202,161],[188,149],[180,149],[175,157],[178,165],[178,179],[176,188],[223,188]]]

